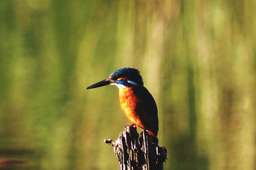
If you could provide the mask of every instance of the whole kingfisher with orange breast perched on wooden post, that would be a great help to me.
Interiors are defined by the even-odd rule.
[[[157,106],[153,96],[143,85],[143,79],[138,69],[123,67],[117,69],[110,76],[86,89],[116,85],[119,89],[119,102],[126,117],[142,129],[146,129],[150,136],[157,139],[158,117]]]

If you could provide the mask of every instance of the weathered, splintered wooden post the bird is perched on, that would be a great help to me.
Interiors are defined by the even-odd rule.
[[[162,170],[167,159],[166,148],[151,143],[150,135],[145,130],[139,136],[135,125],[125,126],[116,141],[104,141],[113,146],[120,170]]]

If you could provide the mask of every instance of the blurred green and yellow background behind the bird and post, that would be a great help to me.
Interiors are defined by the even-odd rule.
[[[0,168],[118,169],[118,89],[140,70],[164,169],[256,169],[254,0],[0,1]],[[8,163],[9,161],[9,163]]]

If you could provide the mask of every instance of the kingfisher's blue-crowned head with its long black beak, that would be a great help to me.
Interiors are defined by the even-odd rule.
[[[124,67],[117,69],[110,74],[109,78],[106,80],[99,81],[86,89],[93,89],[97,87],[102,87],[104,85],[116,85],[117,87],[133,87],[133,86],[143,86],[143,80],[138,69],[131,67]]]

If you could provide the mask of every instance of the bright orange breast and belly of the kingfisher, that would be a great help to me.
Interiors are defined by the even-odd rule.
[[[138,104],[140,104],[140,101],[132,91],[131,87],[121,87],[119,89],[119,101],[122,110],[132,124],[136,124],[145,129],[143,122],[141,122],[141,117],[143,117],[143,115],[136,109],[139,107]]]

